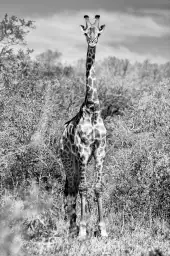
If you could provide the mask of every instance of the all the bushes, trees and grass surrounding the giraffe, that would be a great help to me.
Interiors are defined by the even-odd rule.
[[[65,174],[58,154],[63,124],[84,100],[85,65],[63,66],[48,50],[31,59],[32,21],[0,22],[0,255],[170,255],[170,62],[96,63],[107,127],[104,208],[109,238],[94,236],[93,162],[88,239],[68,236]],[[83,67],[83,68],[82,68]],[[78,199],[77,212],[80,216]]]

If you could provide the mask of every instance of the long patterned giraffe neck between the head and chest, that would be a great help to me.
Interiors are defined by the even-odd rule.
[[[97,94],[96,75],[95,75],[95,53],[96,47],[88,46],[86,60],[86,96],[85,105],[91,111],[99,111],[100,103]]]

